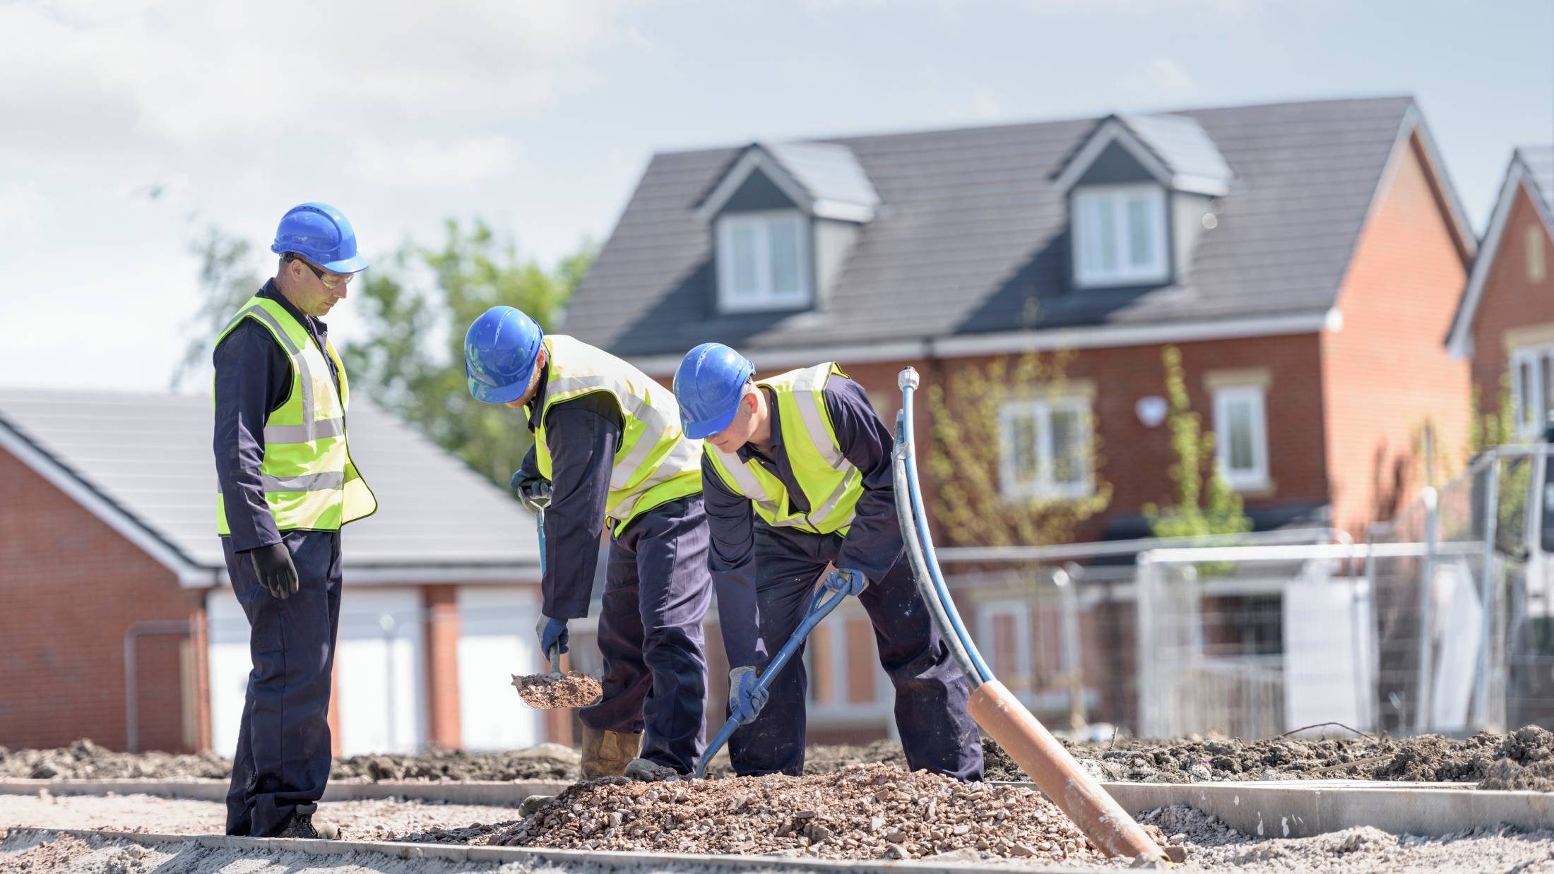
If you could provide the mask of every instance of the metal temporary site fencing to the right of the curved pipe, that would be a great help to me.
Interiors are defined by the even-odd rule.
[[[995,671],[1057,727],[1257,737],[1327,722],[1549,723],[1548,455],[1486,452],[1361,543],[1315,528],[940,560]]]

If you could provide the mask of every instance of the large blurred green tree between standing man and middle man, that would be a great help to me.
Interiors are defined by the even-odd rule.
[[[480,220],[469,228],[449,220],[440,248],[402,245],[388,259],[390,269],[368,272],[359,292],[367,338],[340,352],[353,383],[505,486],[531,438],[524,413],[469,396],[465,331],[500,304],[522,309],[549,331],[594,255],[584,242],[545,270],[519,258],[510,239]]]

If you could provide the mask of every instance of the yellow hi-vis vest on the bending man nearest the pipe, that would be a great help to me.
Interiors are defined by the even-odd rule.
[[[777,424],[783,452],[810,501],[810,512],[789,506],[788,489],[758,461],[743,463],[732,452],[707,444],[707,458],[732,491],[755,503],[755,515],[774,528],[797,528],[814,534],[847,534],[853,509],[864,494],[862,475],[842,455],[831,414],[825,410],[825,383],[831,374],[847,376],[834,362],[794,369],[757,382],[777,399]]]

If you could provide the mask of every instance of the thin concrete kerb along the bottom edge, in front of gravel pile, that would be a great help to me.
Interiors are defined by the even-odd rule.
[[[901,869],[948,871],[954,874],[1009,874],[1009,863],[976,865],[967,862],[900,860],[900,862],[852,862],[828,858],[791,858],[780,855],[699,855],[678,852],[620,852],[589,849],[533,849],[517,846],[463,846],[440,843],[353,841],[353,840],[305,840],[305,838],[242,838],[230,835],[169,835],[151,832],[118,832],[107,829],[11,829],[30,834],[64,834],[78,838],[96,837],[141,845],[194,843],[210,849],[239,849],[252,852],[306,852],[309,855],[350,855],[373,852],[406,860],[446,862],[545,862],[561,868],[586,868],[589,871],[667,871],[693,868],[735,871],[805,871],[816,874],[887,874]],[[1100,874],[1099,868],[1032,868],[1021,865],[1029,874]]]

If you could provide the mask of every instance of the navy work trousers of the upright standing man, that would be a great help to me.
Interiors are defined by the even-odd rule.
[[[222,537],[232,591],[249,616],[249,692],[227,790],[227,834],[274,837],[329,781],[329,682],[340,627],[340,532],[286,531],[300,588],[280,599]]]

